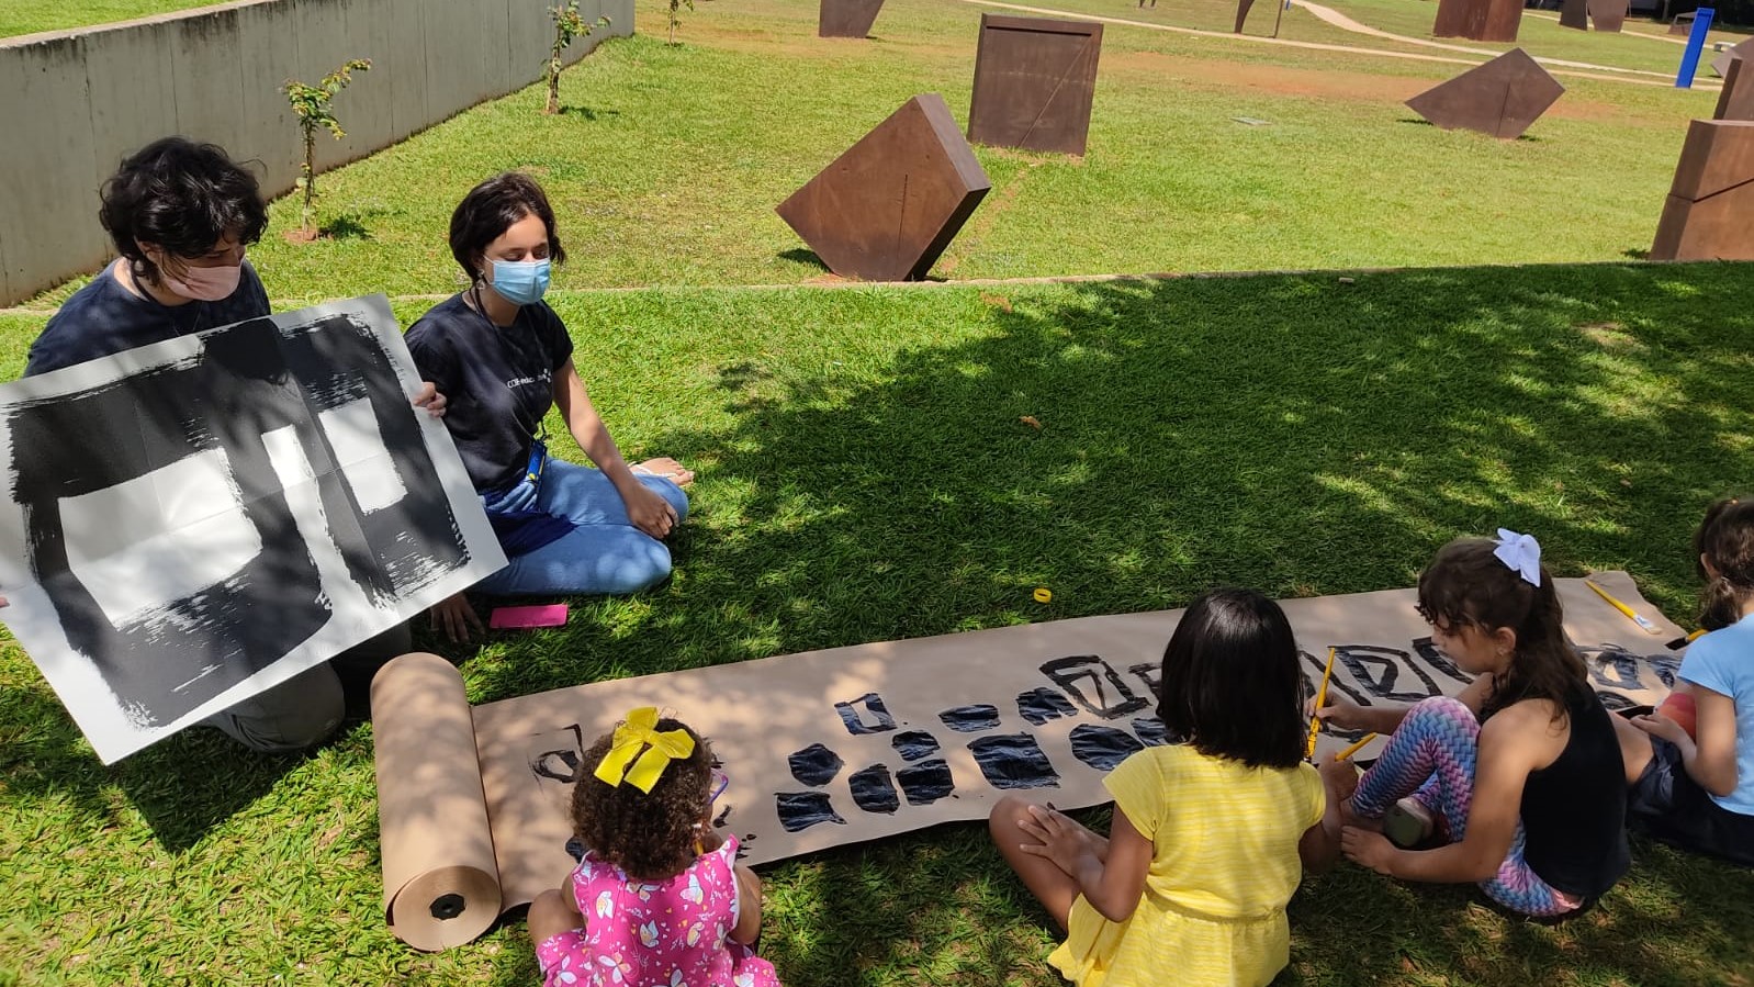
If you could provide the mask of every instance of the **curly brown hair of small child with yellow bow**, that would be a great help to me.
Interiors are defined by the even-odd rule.
[[[651,792],[630,784],[609,787],[596,766],[614,743],[614,731],[596,738],[579,763],[584,775],[572,787],[572,829],[600,859],[635,880],[663,880],[695,861],[696,826],[707,822],[712,787],[712,749],[688,724],[663,717],[658,733],[688,731],[695,750],[670,761]]]

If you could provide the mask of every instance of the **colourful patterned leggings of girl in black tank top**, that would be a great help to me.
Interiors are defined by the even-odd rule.
[[[1352,810],[1380,819],[1394,799],[1414,796],[1449,827],[1454,841],[1468,833],[1473,805],[1473,766],[1480,749],[1480,721],[1459,699],[1422,699],[1389,738],[1382,757],[1365,771]],[[1552,917],[1577,910],[1580,901],[1544,882],[1522,859],[1522,822],[1498,873],[1480,882],[1487,898],[1524,915]]]

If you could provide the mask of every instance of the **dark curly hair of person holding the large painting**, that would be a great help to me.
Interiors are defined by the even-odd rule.
[[[256,177],[223,147],[186,137],[163,137],[123,158],[98,196],[98,223],[116,252],[153,284],[160,272],[142,242],[175,258],[200,258],[226,233],[249,245],[268,228]]]

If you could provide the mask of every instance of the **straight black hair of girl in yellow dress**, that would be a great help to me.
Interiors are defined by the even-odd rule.
[[[1303,675],[1291,621],[1252,589],[1214,589],[1163,650],[1158,719],[1194,750],[1249,768],[1303,759]]]

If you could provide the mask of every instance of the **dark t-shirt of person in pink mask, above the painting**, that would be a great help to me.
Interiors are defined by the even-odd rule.
[[[30,344],[25,377],[268,314],[268,293],[249,261],[228,298],[184,305],[142,298],[123,288],[114,270],[114,265],[103,268],[49,317],[42,335]]]

